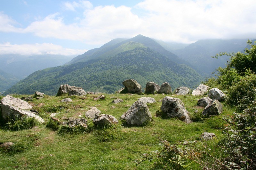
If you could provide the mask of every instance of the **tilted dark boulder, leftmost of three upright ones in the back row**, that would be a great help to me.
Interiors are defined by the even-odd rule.
[[[124,93],[125,91],[127,91],[127,93],[142,93],[141,85],[134,79],[124,80],[123,85],[125,89],[120,93]]]

